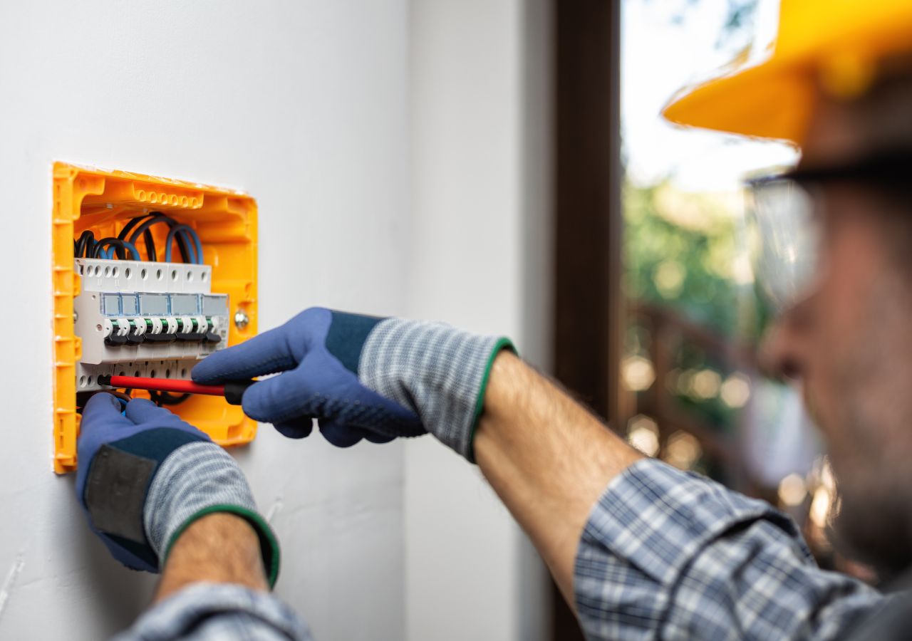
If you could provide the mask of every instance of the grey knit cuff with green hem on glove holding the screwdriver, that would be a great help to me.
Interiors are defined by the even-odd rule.
[[[358,361],[366,388],[414,411],[431,434],[475,462],[472,440],[494,357],[509,338],[475,336],[443,323],[388,318]]]

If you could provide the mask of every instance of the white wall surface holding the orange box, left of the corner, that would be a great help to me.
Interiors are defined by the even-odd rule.
[[[0,5],[0,638],[103,638],[153,585],[50,471],[51,162],[253,194],[261,330],[315,304],[403,314],[407,27],[405,0]],[[264,428],[236,455],[317,638],[403,638],[402,446]]]

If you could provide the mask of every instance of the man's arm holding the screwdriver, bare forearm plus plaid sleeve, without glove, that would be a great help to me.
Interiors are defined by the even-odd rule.
[[[833,638],[882,604],[821,572],[770,505],[643,460],[513,354],[494,361],[474,453],[587,638]]]

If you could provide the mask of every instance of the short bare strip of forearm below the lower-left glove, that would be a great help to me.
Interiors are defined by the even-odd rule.
[[[250,523],[227,512],[193,522],[171,547],[155,601],[202,582],[268,590],[260,542]]]

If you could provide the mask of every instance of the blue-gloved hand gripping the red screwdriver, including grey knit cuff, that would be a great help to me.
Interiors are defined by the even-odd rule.
[[[198,383],[275,372],[244,392],[244,412],[295,439],[339,447],[430,431],[468,460],[493,358],[506,338],[442,323],[307,309],[284,326],[206,357]]]

